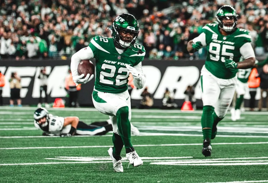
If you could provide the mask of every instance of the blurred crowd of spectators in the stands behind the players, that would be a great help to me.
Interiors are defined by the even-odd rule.
[[[187,42],[215,21],[222,5],[239,14],[238,27],[250,31],[257,56],[268,52],[267,0],[0,0],[0,56],[66,59],[92,37],[111,37],[114,18],[133,14],[140,24],[137,42],[146,58],[203,59],[206,49],[189,54]]]

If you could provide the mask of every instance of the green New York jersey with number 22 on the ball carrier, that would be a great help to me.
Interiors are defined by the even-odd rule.
[[[128,89],[129,71],[126,64],[136,66],[142,62],[145,49],[140,44],[134,44],[119,54],[114,46],[113,38],[95,36],[89,47],[96,59],[95,89],[107,93],[122,93]],[[138,54],[138,50],[142,54]]]

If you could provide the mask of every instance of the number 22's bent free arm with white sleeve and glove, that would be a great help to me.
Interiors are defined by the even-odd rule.
[[[129,65],[126,65],[126,68],[129,70],[129,72],[133,76],[133,84],[139,89],[142,89],[143,86],[145,85],[146,78],[143,74],[142,70],[142,63],[140,62],[134,67],[131,67]]]

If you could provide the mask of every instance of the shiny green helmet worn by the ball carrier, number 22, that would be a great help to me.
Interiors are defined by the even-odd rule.
[[[117,44],[124,48],[131,47],[136,42],[140,32],[139,23],[133,15],[123,13],[114,19],[111,31],[112,37]],[[133,39],[121,36],[120,31],[124,31],[126,34],[133,34]]]

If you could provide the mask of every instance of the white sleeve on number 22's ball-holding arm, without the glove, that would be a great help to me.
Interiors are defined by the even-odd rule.
[[[73,54],[71,58],[71,71],[72,75],[79,75],[77,72],[78,64],[81,62],[81,60],[89,60],[94,57],[92,49],[88,46],[86,48],[80,49],[78,52]]]

